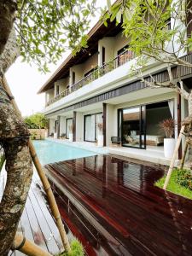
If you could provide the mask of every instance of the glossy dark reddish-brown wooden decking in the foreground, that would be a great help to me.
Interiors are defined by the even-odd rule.
[[[89,255],[192,255],[192,201],[154,187],[160,167],[108,155],[45,167]]]

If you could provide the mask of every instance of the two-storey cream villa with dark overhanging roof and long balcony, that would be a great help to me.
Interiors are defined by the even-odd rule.
[[[171,27],[170,20],[168,29]],[[100,20],[88,37],[88,48],[69,55],[38,91],[45,93],[49,136],[97,143],[109,153],[169,164],[159,124],[170,118],[179,124],[188,116],[188,102],[176,90],[154,89],[131,75],[137,57],[127,49],[129,41],[120,25],[110,22],[106,27]],[[192,61],[192,55],[182,57]],[[172,73],[191,88],[189,68],[172,67]],[[146,79],[149,75],[166,81],[166,65],[151,61],[143,72]],[[175,138],[179,129],[177,125]],[[119,147],[114,147],[115,143]],[[178,159],[181,152],[182,147]]]

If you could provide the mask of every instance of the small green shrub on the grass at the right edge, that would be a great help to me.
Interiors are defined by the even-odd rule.
[[[185,188],[192,190],[192,172],[187,169],[178,170],[177,183]]]

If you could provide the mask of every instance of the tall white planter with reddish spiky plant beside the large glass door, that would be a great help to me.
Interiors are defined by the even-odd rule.
[[[164,155],[166,158],[171,159],[175,148],[175,138],[173,135],[176,122],[172,118],[164,119],[159,125],[160,130],[166,133],[166,138],[164,138]]]

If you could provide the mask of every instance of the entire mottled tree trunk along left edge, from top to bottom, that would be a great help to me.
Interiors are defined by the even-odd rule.
[[[7,183],[0,203],[0,255],[8,255],[32,181],[29,132],[3,90],[3,74],[18,55],[13,22],[17,1],[0,1],[0,144]]]

